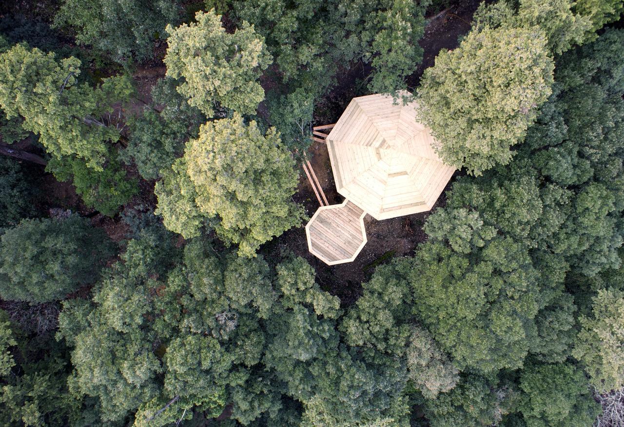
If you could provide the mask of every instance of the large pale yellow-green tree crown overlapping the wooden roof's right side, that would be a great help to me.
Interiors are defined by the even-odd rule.
[[[524,138],[551,93],[546,42],[535,27],[485,27],[457,49],[440,52],[422,76],[418,97],[442,160],[477,176],[509,163],[509,147]]]

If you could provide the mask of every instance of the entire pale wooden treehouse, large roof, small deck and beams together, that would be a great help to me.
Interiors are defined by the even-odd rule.
[[[381,220],[434,206],[455,168],[437,156],[429,128],[416,120],[417,108],[416,102],[368,95],[353,98],[335,125],[314,128],[313,140],[327,144],[336,190],[345,198],[324,206],[316,175],[309,162],[304,165],[321,204],[306,225],[314,256],[329,265],[354,261],[366,244],[366,214]],[[329,128],[329,134],[319,132]]]

